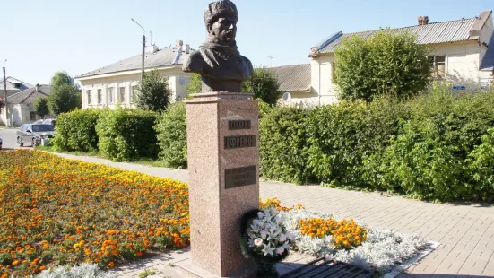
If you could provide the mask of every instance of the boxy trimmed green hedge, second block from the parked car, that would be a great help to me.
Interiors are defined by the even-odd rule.
[[[96,125],[100,153],[112,161],[155,158],[158,154],[153,126],[156,113],[141,109],[115,109],[101,113]]]

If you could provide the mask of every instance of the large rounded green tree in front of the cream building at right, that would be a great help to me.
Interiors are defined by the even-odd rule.
[[[407,97],[429,83],[428,48],[408,32],[378,31],[369,39],[344,39],[334,51],[334,83],[341,100],[371,101],[377,94]]]

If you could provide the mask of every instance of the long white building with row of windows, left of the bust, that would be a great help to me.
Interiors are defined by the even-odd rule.
[[[145,53],[144,71],[158,70],[168,76],[172,101],[186,97],[190,74],[182,72],[182,64],[190,52],[189,46],[178,40],[174,47],[158,49],[151,46]],[[82,109],[114,109],[117,104],[134,107],[141,72],[142,54],[76,76],[75,79],[81,82]]]

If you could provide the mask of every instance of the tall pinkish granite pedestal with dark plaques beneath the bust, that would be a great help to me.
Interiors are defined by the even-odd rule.
[[[259,206],[258,103],[249,93],[186,101],[192,263],[218,276],[248,268],[239,219]]]

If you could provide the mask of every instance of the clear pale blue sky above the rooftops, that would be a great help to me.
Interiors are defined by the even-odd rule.
[[[206,38],[203,13],[212,0],[0,0],[0,62],[6,75],[47,84],[57,71],[84,74],[183,40]],[[309,63],[310,48],[334,32],[405,27],[478,16],[492,0],[237,0],[238,50],[255,66]],[[270,56],[272,58],[270,58]],[[1,66],[1,64],[0,64]]]

